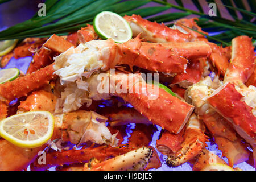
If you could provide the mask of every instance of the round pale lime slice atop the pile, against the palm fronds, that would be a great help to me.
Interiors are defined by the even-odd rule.
[[[133,36],[129,23],[122,16],[111,11],[97,14],[93,20],[93,27],[100,38],[112,38],[117,43],[126,42]]]

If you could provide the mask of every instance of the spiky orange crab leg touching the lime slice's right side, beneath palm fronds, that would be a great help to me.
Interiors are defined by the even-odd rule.
[[[187,42],[190,38],[189,34],[171,29],[164,24],[150,22],[139,15],[126,15],[123,18],[130,24],[134,37],[142,32],[142,38],[150,42]]]

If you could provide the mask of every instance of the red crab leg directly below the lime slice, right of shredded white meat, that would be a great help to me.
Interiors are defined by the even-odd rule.
[[[146,43],[141,42],[139,36],[119,47],[123,53],[122,64],[166,73],[183,73],[187,59],[207,57],[212,52],[204,42]]]

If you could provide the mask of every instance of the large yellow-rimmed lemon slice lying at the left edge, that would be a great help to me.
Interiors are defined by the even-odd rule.
[[[42,146],[52,136],[54,118],[48,111],[16,114],[0,122],[0,136],[24,148]]]

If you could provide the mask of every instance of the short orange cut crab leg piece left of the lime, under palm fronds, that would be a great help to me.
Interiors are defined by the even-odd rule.
[[[55,34],[53,34],[43,45],[57,53],[63,53],[70,47],[74,46],[71,42],[68,42],[68,40],[65,40]]]

